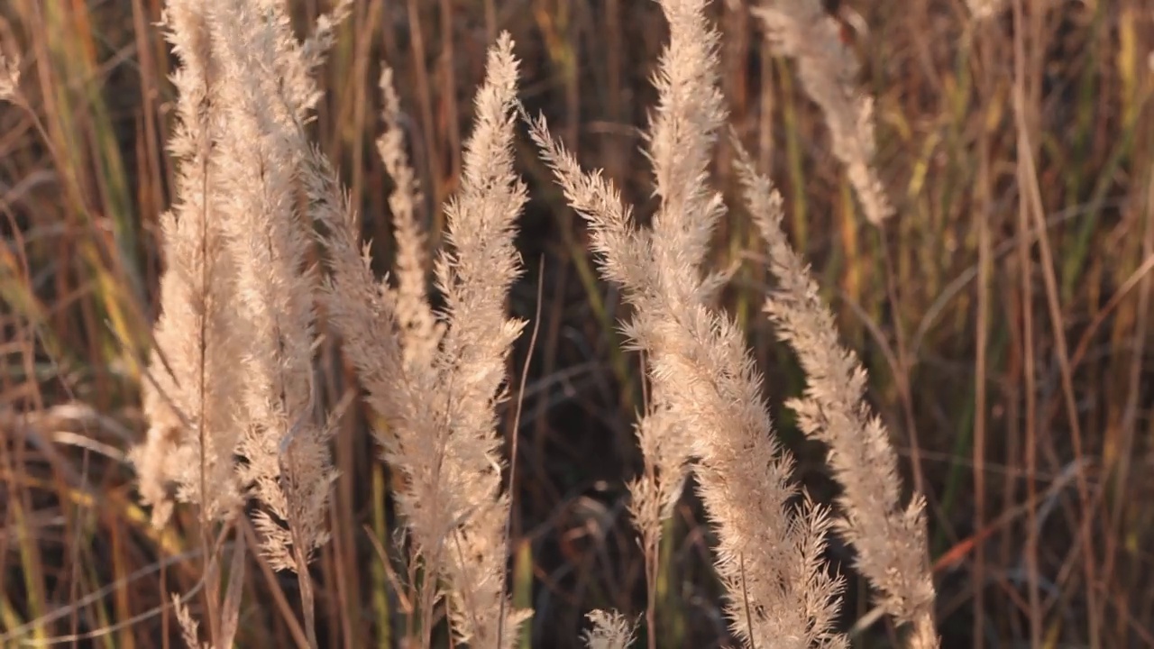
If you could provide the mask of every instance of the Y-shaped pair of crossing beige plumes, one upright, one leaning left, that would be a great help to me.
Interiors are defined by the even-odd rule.
[[[670,36],[647,136],[661,199],[652,230],[632,227],[616,191],[599,173],[583,172],[544,120],[534,120],[531,133],[570,206],[586,219],[602,276],[621,284],[634,306],[625,333],[647,353],[653,393],[660,395],[654,401],[668,409],[668,424],[657,428],[683,435],[697,458],[730,628],[747,647],[844,647],[845,637],[832,631],[841,581],[826,572],[823,557],[829,515],[808,499],[790,503],[797,495],[793,461],[773,433],[760,374],[737,326],[709,306],[724,279],[702,268],[725,214],[720,195],[706,185],[726,119],[717,84],[718,33],[700,0],[661,6]]]

